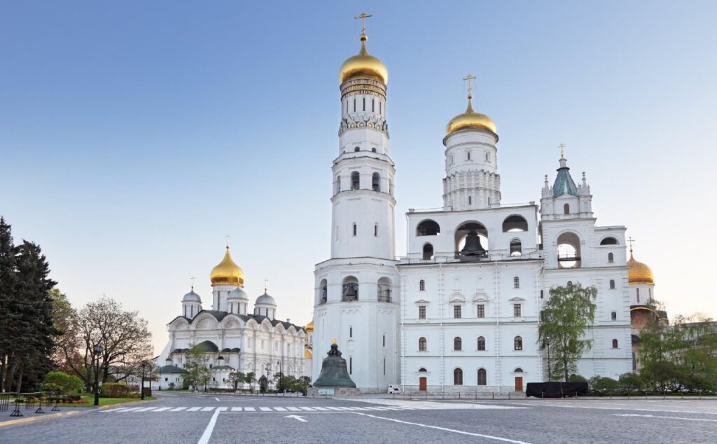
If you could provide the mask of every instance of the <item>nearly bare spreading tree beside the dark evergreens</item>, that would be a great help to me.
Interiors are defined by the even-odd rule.
[[[138,311],[124,311],[113,298],[103,297],[87,303],[72,316],[72,327],[61,342],[69,365],[83,379],[87,387],[95,382],[95,366],[100,362],[100,381],[110,374],[116,380],[136,373],[136,367],[152,356],[152,334],[147,321]],[[101,346],[97,352],[95,346]],[[80,359],[73,356],[80,355]]]

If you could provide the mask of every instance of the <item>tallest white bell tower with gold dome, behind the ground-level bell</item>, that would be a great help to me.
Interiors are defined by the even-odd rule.
[[[341,65],[338,157],[331,171],[331,258],[315,267],[313,374],[333,339],[356,387],[397,383],[399,275],[394,256],[394,162],[386,123],[386,66],[366,49]]]

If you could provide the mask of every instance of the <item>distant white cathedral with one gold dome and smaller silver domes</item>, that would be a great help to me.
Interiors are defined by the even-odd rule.
[[[232,372],[253,372],[263,388],[270,387],[277,372],[297,378],[311,375],[308,329],[288,320],[280,321],[277,301],[267,293],[267,288],[255,299],[250,311],[244,272],[234,263],[228,245],[222,261],[209,273],[209,280],[211,306],[202,306],[192,285],[181,299],[181,314],[167,324],[169,340],[156,358],[159,377],[154,387],[183,386],[182,366],[186,352],[193,346],[203,352],[210,368],[209,387],[231,387]]]

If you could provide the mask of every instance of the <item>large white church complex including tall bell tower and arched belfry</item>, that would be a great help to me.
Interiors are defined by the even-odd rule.
[[[408,252],[397,259],[388,71],[368,54],[366,39],[364,29],[359,55],[340,70],[331,258],[314,272],[313,374],[336,339],[364,392],[389,384],[521,391],[547,380],[537,344],[543,301],[551,287],[578,283],[599,290],[587,333],[594,344],[578,373],[632,371],[625,227],[597,225],[585,174],[576,183],[562,151],[539,205],[502,204],[498,131],[473,110],[470,76],[467,110],[450,119],[442,138],[442,209],[409,209]]]

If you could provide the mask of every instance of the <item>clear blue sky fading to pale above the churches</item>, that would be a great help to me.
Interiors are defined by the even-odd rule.
[[[627,225],[671,314],[717,317],[714,1],[5,1],[0,214],[76,306],[113,296],[155,344],[232,235],[250,295],[309,321],[329,255],[338,67],[390,72],[402,214],[441,204],[445,123],[498,126],[503,202],[538,201],[564,142],[601,225]]]

